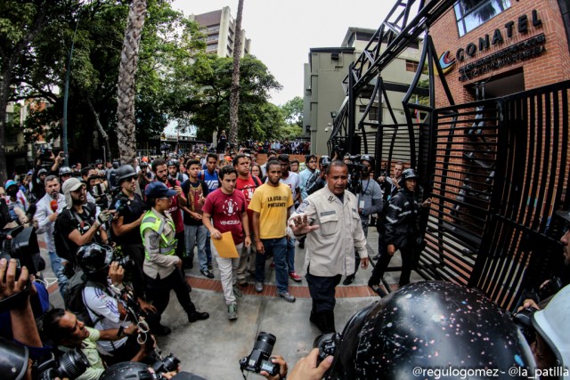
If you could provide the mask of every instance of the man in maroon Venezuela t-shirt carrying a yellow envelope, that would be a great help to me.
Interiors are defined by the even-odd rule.
[[[222,239],[224,232],[232,232],[233,244],[241,252],[243,246],[251,245],[249,235],[248,213],[246,212],[246,198],[240,191],[235,191],[235,182],[238,173],[233,166],[224,166],[220,170],[222,187],[209,193],[204,206],[202,206],[202,222],[210,231],[212,237],[212,255],[216,257],[220,269],[220,279],[224,289],[225,303],[228,306],[228,319],[238,318],[238,305],[236,296],[243,295],[237,287],[235,271],[240,264],[240,258],[224,258],[216,250],[214,239]],[[211,218],[211,221],[210,221]],[[214,222],[214,225],[212,225]],[[245,236],[244,236],[245,234]]]

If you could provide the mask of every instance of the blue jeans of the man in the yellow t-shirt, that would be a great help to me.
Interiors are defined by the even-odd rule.
[[[267,255],[273,254],[273,263],[275,263],[275,277],[277,279],[277,291],[279,293],[287,292],[289,286],[287,271],[287,238],[278,239],[261,239],[265,247],[265,254],[261,255],[259,251],[256,253],[256,281],[265,281],[265,259]]]

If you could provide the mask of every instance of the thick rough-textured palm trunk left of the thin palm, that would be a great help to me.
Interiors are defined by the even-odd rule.
[[[136,135],[134,125],[134,95],[139,45],[141,44],[142,27],[147,6],[145,0],[133,0],[128,10],[125,41],[118,69],[117,95],[117,137],[118,152],[122,164],[134,166],[136,155]]]

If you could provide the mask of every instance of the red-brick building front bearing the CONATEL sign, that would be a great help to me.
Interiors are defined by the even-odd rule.
[[[430,29],[456,103],[475,101],[477,86],[489,99],[570,79],[567,0],[472,3],[460,0]]]

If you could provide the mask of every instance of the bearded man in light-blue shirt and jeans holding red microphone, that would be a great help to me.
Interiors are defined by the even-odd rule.
[[[47,252],[52,263],[53,274],[57,277],[61,297],[65,299],[68,287],[68,278],[63,273],[64,267],[61,257],[57,255],[55,242],[53,241],[53,230],[58,214],[65,208],[65,197],[60,193],[60,180],[55,175],[45,178],[45,196],[37,201],[36,220],[37,234],[44,234]]]

